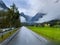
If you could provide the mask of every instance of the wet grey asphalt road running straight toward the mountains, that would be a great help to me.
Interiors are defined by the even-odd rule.
[[[23,26],[20,32],[7,45],[47,45],[47,43],[46,39],[37,36],[37,34]]]

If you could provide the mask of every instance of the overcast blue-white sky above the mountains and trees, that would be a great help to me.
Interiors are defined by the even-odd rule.
[[[34,16],[37,12],[47,13],[39,22],[60,18],[60,0],[3,0],[10,7],[15,3],[19,12]],[[21,17],[25,20],[23,17]]]

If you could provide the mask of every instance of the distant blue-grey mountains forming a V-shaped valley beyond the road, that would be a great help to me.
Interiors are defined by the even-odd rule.
[[[28,15],[25,15],[23,12],[20,13],[20,16],[23,16],[26,19],[26,23],[33,24],[34,21],[38,21],[40,18],[42,18],[45,13],[37,13],[34,17],[30,17]]]

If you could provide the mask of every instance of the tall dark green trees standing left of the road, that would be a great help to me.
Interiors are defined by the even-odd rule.
[[[18,8],[14,3],[6,11],[0,10],[0,28],[20,27],[19,17]]]

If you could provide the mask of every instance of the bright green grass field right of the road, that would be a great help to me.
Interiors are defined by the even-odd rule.
[[[28,28],[49,40],[60,41],[60,28],[31,26]]]

